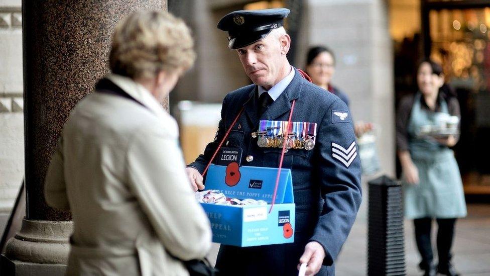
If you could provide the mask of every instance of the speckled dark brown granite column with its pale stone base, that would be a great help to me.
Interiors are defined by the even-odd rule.
[[[70,111],[108,71],[115,24],[140,9],[166,10],[167,1],[23,1],[27,214],[0,274],[64,274],[71,215],[46,205],[46,170]]]

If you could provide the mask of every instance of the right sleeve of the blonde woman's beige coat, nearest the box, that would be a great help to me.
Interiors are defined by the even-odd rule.
[[[204,257],[211,228],[196,201],[177,140],[164,130],[139,131],[128,149],[128,178],[163,246],[181,260]]]

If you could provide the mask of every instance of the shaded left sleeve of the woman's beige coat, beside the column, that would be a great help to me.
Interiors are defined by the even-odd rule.
[[[46,203],[56,209],[69,210],[66,195],[65,174],[63,169],[63,139],[58,140],[55,152],[49,162],[44,183],[44,198]]]

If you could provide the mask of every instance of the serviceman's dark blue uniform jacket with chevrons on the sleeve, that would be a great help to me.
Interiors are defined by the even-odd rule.
[[[342,100],[305,80],[296,70],[289,86],[272,103],[261,118],[257,115],[257,85],[249,85],[229,93],[223,100],[221,121],[214,142],[209,143],[190,166],[202,172],[226,130],[240,111],[243,114],[233,126],[228,146],[243,150],[241,165],[278,167],[281,150],[260,148],[257,138],[259,120],[287,121],[291,103],[296,100],[292,121],[317,123],[313,150],[291,149],[283,161],[291,168],[296,204],[295,241],[292,244],[239,248],[221,246],[217,264],[225,275],[297,275],[296,265],[309,241],[322,244],[326,252],[320,275],[334,274],[333,262],[345,242],[361,202],[360,161],[357,145],[351,149],[348,166],[332,157],[332,143],[347,149],[355,136],[348,108]],[[334,113],[348,113],[341,120]],[[338,114],[338,113],[337,113]],[[225,142],[226,143],[226,142]],[[355,151],[355,154],[354,154]],[[254,158],[247,162],[246,156]],[[352,158],[352,156],[354,156]],[[327,267],[328,266],[328,267]]]

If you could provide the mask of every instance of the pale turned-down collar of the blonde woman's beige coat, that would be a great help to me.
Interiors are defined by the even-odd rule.
[[[150,109],[155,114],[160,114],[162,112],[166,113],[166,110],[162,105],[153,97],[153,95],[148,91],[145,86],[134,81],[130,77],[121,76],[117,74],[109,74],[106,76],[110,81],[115,83],[119,88],[128,93],[136,101],[143,104],[145,107]]]

